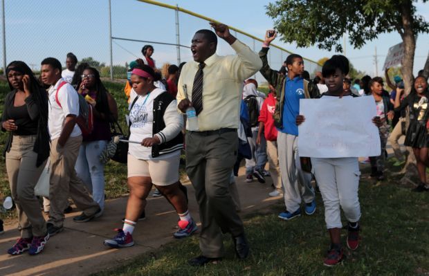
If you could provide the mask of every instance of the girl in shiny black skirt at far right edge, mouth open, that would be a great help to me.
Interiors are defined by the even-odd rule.
[[[410,94],[401,102],[403,89],[396,89],[394,101],[395,111],[401,111],[405,107],[410,107],[410,126],[405,135],[404,145],[412,147],[417,160],[417,170],[419,171],[420,184],[413,189],[414,192],[429,191],[426,183],[426,167],[429,167],[428,142],[429,135],[426,129],[429,116],[428,108],[428,81],[420,76],[414,80]]]

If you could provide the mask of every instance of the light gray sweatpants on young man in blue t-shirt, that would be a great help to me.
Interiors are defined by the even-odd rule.
[[[304,203],[311,203],[314,200],[314,189],[310,183],[311,174],[301,169],[298,136],[279,131],[277,150],[284,185],[284,204],[286,210],[293,213],[300,208],[301,199]]]

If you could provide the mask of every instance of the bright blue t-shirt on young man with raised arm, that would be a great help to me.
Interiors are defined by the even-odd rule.
[[[304,79],[295,77],[290,80],[286,77],[286,87],[284,88],[283,106],[283,128],[278,129],[284,134],[298,136],[298,126],[296,116],[300,113],[300,99],[304,99]]]

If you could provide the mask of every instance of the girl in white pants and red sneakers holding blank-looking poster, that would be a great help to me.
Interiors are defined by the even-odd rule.
[[[350,92],[344,92],[343,82],[349,73],[349,60],[343,55],[334,55],[322,67],[322,75],[328,91],[322,94],[324,98],[354,97]],[[297,116],[296,124],[300,125],[305,118]],[[380,126],[381,120],[374,117],[372,122]],[[348,221],[347,247],[356,250],[359,246],[360,204],[358,199],[359,164],[358,157],[343,158],[311,158],[314,175],[322,194],[325,205],[325,221],[331,237],[331,247],[324,261],[325,266],[334,266],[344,259],[344,250],[340,241],[341,210],[343,209]]]

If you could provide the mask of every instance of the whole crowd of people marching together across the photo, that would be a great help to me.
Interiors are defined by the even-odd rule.
[[[234,176],[245,158],[247,183],[266,183],[271,176],[273,190],[268,196],[283,196],[285,210],[278,217],[285,221],[302,212],[309,216],[316,212],[316,187],[311,182],[316,181],[331,241],[323,264],[334,266],[343,261],[341,209],[347,219],[347,248],[356,250],[360,243],[361,156],[300,156],[299,126],[306,123],[306,114],[300,114],[300,99],[304,98],[374,98],[376,116],[367,123],[378,127],[381,154],[369,156],[371,177],[385,180],[387,140],[394,149],[394,165],[405,163],[398,144],[404,134],[404,145],[412,148],[419,172],[420,183],[413,191],[429,190],[429,91],[423,75],[414,79],[405,95],[401,77],[395,76],[392,82],[386,71],[386,80],[378,76],[352,80],[347,58],[334,55],[311,80],[298,54],[289,55],[279,71],[268,64],[270,44],[277,36],[274,30],[267,30],[258,55],[234,37],[228,26],[211,26],[214,32],[198,30],[194,34],[191,62],[165,64],[161,74],[152,58],[154,47],[146,45],[143,57],[129,64],[124,89],[129,102],[129,197],[122,228],[104,241],[105,246],[134,245],[132,234],[137,222],[145,218],[147,196],[154,187],[154,195],[165,196],[179,217],[174,237],[190,237],[199,230],[201,255],[190,259],[190,265],[203,266],[223,258],[226,233],[232,237],[237,257],[245,259],[250,246],[237,213],[239,194],[233,192]],[[218,37],[236,55],[217,55]],[[11,62],[6,68],[10,93],[5,98],[1,129],[9,134],[6,169],[21,232],[8,250],[10,255],[42,252],[48,239],[64,229],[70,198],[82,211],[73,218],[76,223],[91,221],[104,212],[105,162],[100,156],[118,142],[111,125],[125,118],[118,118],[116,100],[104,87],[98,70],[77,64],[73,53],[66,55],[64,70],[59,60],[47,57],[41,62],[39,78],[24,62]],[[258,71],[268,82],[268,95],[257,91],[258,83],[251,78]],[[385,91],[385,81],[391,93]],[[410,114],[408,124],[405,109]],[[183,149],[200,228],[188,210],[187,188],[179,180]],[[46,166],[50,171],[49,196],[44,199],[47,221],[34,193]]]

